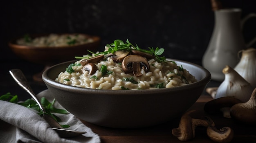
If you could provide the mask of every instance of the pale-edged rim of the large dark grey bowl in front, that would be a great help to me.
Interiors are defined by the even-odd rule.
[[[43,75],[42,75],[42,79],[43,81],[45,82],[45,84],[47,85],[51,85],[53,86],[54,88],[58,88],[58,89],[62,89],[62,88],[65,88],[67,89],[68,91],[74,91],[74,92],[80,92],[80,93],[83,93],[83,92],[87,92],[87,93],[97,93],[97,94],[108,94],[108,95],[111,95],[111,94],[117,94],[120,96],[120,95],[136,95],[139,94],[139,95],[146,95],[148,94],[148,92],[150,93],[162,93],[162,92],[175,92],[175,91],[178,91],[178,90],[186,90],[187,88],[195,88],[195,87],[200,87],[200,86],[206,86],[209,81],[211,80],[211,73],[204,67],[198,65],[198,64],[194,64],[194,63],[191,63],[191,62],[186,62],[186,61],[183,61],[183,60],[179,60],[179,59],[171,59],[171,58],[166,58],[168,60],[173,60],[173,61],[177,61],[177,62],[183,62],[183,63],[186,63],[186,64],[190,64],[192,66],[195,66],[197,68],[200,68],[204,73],[205,73],[205,76],[199,80],[199,81],[196,81],[194,83],[191,83],[191,84],[187,84],[187,85],[184,85],[184,86],[176,86],[176,87],[172,87],[172,88],[160,88],[160,89],[144,89],[144,90],[102,90],[102,89],[92,89],[92,88],[83,88],[83,87],[77,87],[77,86],[71,86],[71,85],[66,85],[66,84],[62,84],[62,83],[59,83],[58,81],[55,81],[51,78],[49,78],[47,76],[47,73],[49,72],[49,70],[52,70],[52,68],[55,68],[57,66],[60,66],[62,64],[67,64],[67,63],[72,63],[72,62],[76,62],[77,60],[72,60],[72,61],[67,61],[67,62],[63,62],[63,63],[59,63],[59,64],[56,64],[54,66],[51,66],[49,67],[48,69],[46,69],[44,72],[43,72]],[[57,77],[56,77],[57,78]],[[128,91],[128,92],[127,92]]]

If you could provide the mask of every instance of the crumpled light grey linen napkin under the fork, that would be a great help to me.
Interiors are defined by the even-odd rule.
[[[52,101],[49,90],[44,90],[37,98]],[[63,108],[58,102],[56,108]],[[0,143],[100,143],[98,134],[92,132],[73,114],[56,114],[62,119],[60,124],[70,125],[69,130],[86,131],[73,138],[60,138],[49,124],[29,108],[7,101],[0,101]]]

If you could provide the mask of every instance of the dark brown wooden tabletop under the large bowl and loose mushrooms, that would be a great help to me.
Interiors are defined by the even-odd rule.
[[[256,143],[256,127],[236,123],[233,119],[226,119],[221,115],[209,115],[204,112],[203,107],[207,101],[212,100],[209,95],[201,95],[198,101],[189,109],[195,110],[191,115],[193,118],[200,118],[203,115],[209,116],[217,128],[229,126],[234,130],[232,143]],[[172,135],[171,130],[177,128],[180,119],[174,119],[168,123],[148,128],[138,129],[115,129],[94,125],[83,121],[92,131],[99,134],[102,143],[184,143]],[[195,138],[189,143],[214,143],[206,134],[206,128],[197,127]]]

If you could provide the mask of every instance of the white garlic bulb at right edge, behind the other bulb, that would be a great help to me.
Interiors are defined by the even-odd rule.
[[[234,70],[256,88],[256,49],[242,50],[242,57]]]

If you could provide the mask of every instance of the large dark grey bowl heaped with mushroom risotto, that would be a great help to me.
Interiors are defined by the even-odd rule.
[[[117,50],[121,53],[111,50],[118,49],[115,46],[123,47]],[[104,52],[52,66],[43,81],[54,98],[82,120],[141,128],[181,116],[211,79],[201,66],[160,57],[161,48],[151,54],[124,47],[107,45]]]

